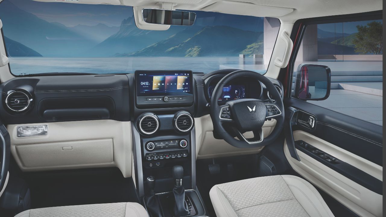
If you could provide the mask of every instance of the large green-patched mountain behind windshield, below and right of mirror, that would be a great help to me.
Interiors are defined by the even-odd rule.
[[[262,36],[262,32],[223,25],[185,29],[137,52],[116,56],[239,56],[245,50],[250,55],[262,54],[262,48],[252,45],[262,45]]]

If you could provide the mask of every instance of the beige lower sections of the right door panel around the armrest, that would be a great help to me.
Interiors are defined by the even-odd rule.
[[[295,139],[302,139],[306,141],[308,139],[307,137],[310,137],[312,139],[310,139],[309,142],[315,140],[315,137],[313,137],[311,134],[304,135],[297,133],[296,135],[294,134],[294,137]],[[320,140],[319,144],[323,143],[328,144],[328,142]],[[328,145],[325,147],[328,147]],[[321,147],[318,148],[320,148],[322,151],[325,151]],[[329,153],[333,153],[331,151],[332,150],[329,150]],[[359,185],[349,178],[346,178],[340,173],[315,160],[311,156],[308,156],[299,150],[297,150],[297,152],[300,161],[291,157],[289,154],[288,146],[286,142],[284,143],[284,154],[288,159],[289,164],[293,170],[303,176],[306,180],[318,186],[318,188],[322,189],[328,195],[335,198],[337,201],[345,205],[359,216],[382,216],[382,195],[372,192],[371,190],[368,190],[367,188]],[[339,151],[337,151],[336,154],[333,154],[335,156],[339,156],[338,153]],[[358,156],[352,156],[351,158],[353,160],[358,158]],[[377,176],[381,175],[382,172],[378,173]]]

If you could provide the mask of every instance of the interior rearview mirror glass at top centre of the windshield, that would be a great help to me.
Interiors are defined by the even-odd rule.
[[[196,14],[181,10],[142,9],[145,22],[161,25],[193,25]]]

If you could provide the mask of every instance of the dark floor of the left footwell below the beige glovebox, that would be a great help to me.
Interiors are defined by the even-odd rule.
[[[32,209],[94,203],[139,202],[132,178],[118,168],[69,170],[25,175]]]

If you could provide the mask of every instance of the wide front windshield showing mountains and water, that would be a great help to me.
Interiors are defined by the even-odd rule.
[[[264,74],[276,18],[195,11],[192,26],[147,31],[133,8],[3,0],[0,18],[11,73],[133,73],[245,69]]]

